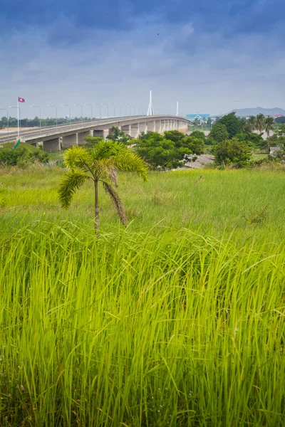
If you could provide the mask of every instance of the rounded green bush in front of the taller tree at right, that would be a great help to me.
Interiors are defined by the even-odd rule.
[[[251,154],[248,147],[246,147],[238,139],[227,139],[221,142],[216,147],[215,162],[217,164],[237,164],[242,166],[243,163],[248,162]]]

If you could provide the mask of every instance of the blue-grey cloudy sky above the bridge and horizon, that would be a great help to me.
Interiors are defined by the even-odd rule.
[[[22,117],[53,115],[46,104],[79,116],[75,103],[147,105],[150,89],[171,112],[285,107],[284,12],[284,0],[1,2],[0,108],[20,96]]]

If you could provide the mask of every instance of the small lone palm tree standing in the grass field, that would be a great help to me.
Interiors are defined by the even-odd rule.
[[[93,149],[77,146],[68,148],[63,154],[63,162],[69,169],[58,190],[59,200],[63,208],[69,208],[76,190],[85,181],[92,180],[95,194],[95,231],[98,231],[98,183],[101,182],[103,189],[110,196],[115,206],[120,221],[123,224],[127,223],[122,201],[114,186],[118,186],[118,171],[135,172],[144,181],[147,180],[147,165],[141,157],[130,152],[120,142],[101,141]]]

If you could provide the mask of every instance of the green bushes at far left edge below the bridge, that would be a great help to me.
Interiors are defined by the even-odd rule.
[[[8,144],[5,144],[5,146]],[[0,149],[0,166],[22,166],[35,162],[47,163],[49,155],[41,149],[29,149],[28,144],[20,144],[16,149]],[[11,146],[11,144],[10,144]]]

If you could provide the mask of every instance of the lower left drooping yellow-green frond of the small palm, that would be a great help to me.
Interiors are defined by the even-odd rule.
[[[86,179],[90,179],[90,177],[76,169],[66,173],[66,175],[61,180],[58,189],[59,201],[61,202],[61,206],[63,208],[67,209],[69,206],[71,206],[71,200],[74,193],[84,184]]]

